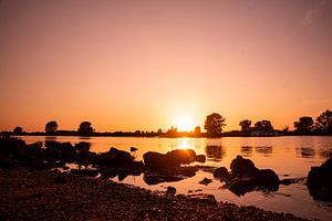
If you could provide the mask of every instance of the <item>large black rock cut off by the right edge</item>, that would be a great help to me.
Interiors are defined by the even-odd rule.
[[[308,173],[307,187],[315,200],[332,201],[332,158]]]

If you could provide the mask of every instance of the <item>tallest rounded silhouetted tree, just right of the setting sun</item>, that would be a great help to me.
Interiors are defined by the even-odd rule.
[[[208,137],[218,137],[222,133],[222,127],[226,126],[226,119],[220,114],[212,113],[206,117],[204,128]]]

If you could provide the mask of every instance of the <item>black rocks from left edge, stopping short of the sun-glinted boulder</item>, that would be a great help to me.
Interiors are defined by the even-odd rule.
[[[64,167],[65,164],[77,164],[85,167],[81,170],[71,170],[72,173],[96,176],[104,178],[118,176],[124,179],[128,175],[141,175],[144,164],[124,150],[111,147],[108,151],[96,154],[90,151],[89,143],[45,141],[25,144],[17,138],[0,138],[0,168],[32,167],[50,169]],[[90,169],[87,167],[91,166]]]

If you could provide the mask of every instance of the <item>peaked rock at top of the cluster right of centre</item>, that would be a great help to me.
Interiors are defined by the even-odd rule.
[[[230,162],[230,170],[235,176],[243,176],[248,173],[255,173],[258,169],[250,159],[245,159],[241,156],[237,156],[237,158]]]

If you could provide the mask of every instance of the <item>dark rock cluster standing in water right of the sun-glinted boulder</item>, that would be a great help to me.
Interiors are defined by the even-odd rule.
[[[240,196],[252,190],[277,191],[279,177],[271,169],[258,169],[250,159],[237,156],[230,164],[230,172],[225,167],[217,168],[214,177],[226,182],[226,187]]]

